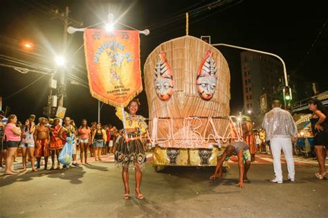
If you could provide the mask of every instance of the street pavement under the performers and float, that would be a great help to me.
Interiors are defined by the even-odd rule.
[[[152,154],[148,154],[148,162]],[[15,168],[21,166],[17,157]],[[69,170],[39,170],[0,177],[0,217],[328,217],[327,180],[318,180],[316,161],[295,157],[296,181],[271,183],[272,156],[259,154],[245,189],[235,187],[235,158],[224,178],[209,182],[214,167],[166,167],[146,164],[141,191],[122,199],[121,170],[113,155]],[[327,161],[326,161],[327,162]],[[30,169],[29,169],[30,170]]]

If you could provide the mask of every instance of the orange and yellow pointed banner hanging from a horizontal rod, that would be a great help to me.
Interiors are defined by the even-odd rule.
[[[138,31],[86,29],[84,49],[93,98],[126,107],[143,91]]]

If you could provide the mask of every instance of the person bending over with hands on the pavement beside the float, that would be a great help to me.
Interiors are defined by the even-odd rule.
[[[249,146],[243,142],[233,142],[224,149],[223,154],[217,157],[217,167],[215,173],[210,176],[210,181],[215,180],[218,176],[219,170],[222,169],[224,161],[228,161],[230,156],[236,155],[238,157],[239,167],[239,183],[236,186],[239,188],[245,188],[244,182],[248,181],[247,172],[250,168],[251,156],[249,152]]]

